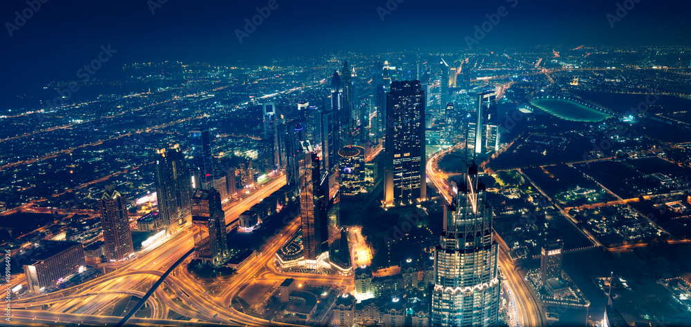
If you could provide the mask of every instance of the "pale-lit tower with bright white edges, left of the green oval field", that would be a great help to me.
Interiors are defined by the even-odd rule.
[[[475,154],[499,150],[496,99],[491,91],[477,94],[475,119],[468,121],[468,148]]]

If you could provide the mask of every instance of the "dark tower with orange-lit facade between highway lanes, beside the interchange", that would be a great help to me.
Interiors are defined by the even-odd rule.
[[[214,188],[197,190],[192,197],[192,224],[196,257],[219,265],[228,259],[225,212]]]

